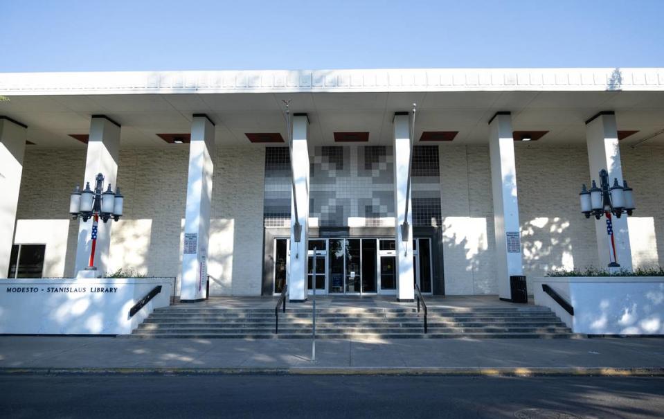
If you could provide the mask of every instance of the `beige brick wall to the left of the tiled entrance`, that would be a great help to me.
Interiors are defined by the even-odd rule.
[[[28,149],[19,196],[19,218],[26,220],[21,229],[42,228],[36,220],[69,220],[69,193],[82,182],[84,162],[83,150]],[[109,271],[179,276],[187,170],[186,146],[120,152],[118,185],[125,195],[125,216],[112,226]],[[260,294],[263,170],[262,148],[217,149],[208,267],[215,280],[210,294]],[[64,268],[53,265],[45,274],[74,274],[77,225],[69,222],[66,238],[49,238],[47,253],[66,247],[66,261]]]

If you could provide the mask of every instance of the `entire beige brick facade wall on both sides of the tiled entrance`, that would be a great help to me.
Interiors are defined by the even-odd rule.
[[[441,145],[440,188],[447,294],[495,294],[494,227],[486,145]],[[584,145],[517,143],[517,186],[523,265],[529,278],[548,269],[597,265],[593,222],[578,208],[578,190],[590,173]],[[635,266],[664,265],[664,147],[623,147],[625,178],[637,211],[629,220]],[[43,229],[38,220],[68,222],[73,185],[82,181],[84,150],[26,152],[18,213],[20,229]],[[125,217],[111,234],[111,269],[178,276],[186,200],[188,148],[123,150],[118,184]],[[211,294],[260,294],[262,270],[263,148],[218,148],[213,184],[208,272]],[[33,220],[32,222],[30,220]],[[66,238],[51,238],[66,254],[49,276],[71,276],[76,222]],[[26,231],[22,237],[34,237]],[[17,237],[19,232],[17,231]],[[46,240],[46,239],[44,239]],[[62,249],[66,247],[66,249]]]

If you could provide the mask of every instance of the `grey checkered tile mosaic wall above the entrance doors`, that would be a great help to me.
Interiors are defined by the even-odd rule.
[[[393,150],[386,146],[314,147],[309,217],[318,226],[392,226]],[[413,224],[440,226],[438,146],[413,150]],[[265,154],[265,226],[288,226],[291,177],[287,147]],[[352,221],[352,222],[351,222]]]

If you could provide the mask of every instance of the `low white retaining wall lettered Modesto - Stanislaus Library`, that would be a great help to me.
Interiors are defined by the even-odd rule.
[[[134,316],[154,287],[161,292]],[[0,333],[125,335],[170,303],[172,278],[0,279]]]

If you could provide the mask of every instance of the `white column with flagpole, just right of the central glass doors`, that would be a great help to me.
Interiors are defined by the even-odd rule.
[[[394,215],[397,257],[397,300],[413,301],[415,285],[413,272],[413,206],[408,197],[408,215],[406,217],[406,193],[411,160],[410,116],[408,112],[397,112],[394,116]],[[408,222],[409,232],[403,240],[402,224]]]

